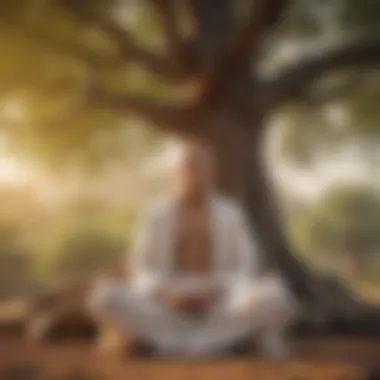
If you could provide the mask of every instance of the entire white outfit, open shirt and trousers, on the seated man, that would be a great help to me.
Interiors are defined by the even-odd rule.
[[[210,202],[214,270],[207,278],[181,278],[173,270],[175,198],[160,202],[143,225],[131,256],[132,280],[103,281],[90,303],[112,316],[120,328],[153,345],[163,354],[220,353],[246,337],[279,332],[294,317],[294,299],[278,277],[260,277],[258,248],[239,205],[220,195]],[[178,286],[222,283],[224,297],[202,319],[171,310],[155,296],[163,282]]]

